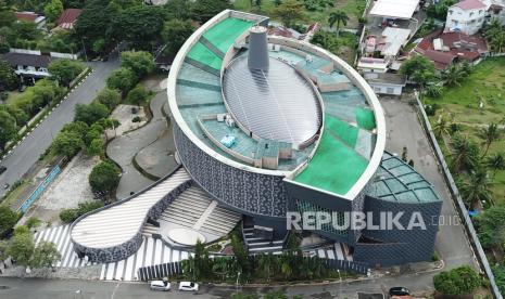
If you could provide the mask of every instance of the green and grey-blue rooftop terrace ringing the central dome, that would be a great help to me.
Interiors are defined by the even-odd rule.
[[[219,81],[224,53],[253,24],[253,22],[228,17],[203,32],[189,49],[179,70],[176,102],[186,125],[201,142],[228,159],[254,167],[251,160],[257,159],[258,155],[275,155],[273,148],[258,147],[268,143],[267,140],[270,138],[257,135],[252,138],[232,123],[218,121],[217,117],[219,114],[229,114],[220,92],[223,87]],[[244,53],[247,49],[240,51],[237,56],[244,55]],[[363,91],[354,86],[354,81],[345,75],[346,73],[336,67],[334,61],[287,46],[272,48],[268,55],[272,60],[279,60],[287,67],[292,67],[291,72],[296,70],[314,82],[323,101],[321,108],[324,108],[325,118],[324,131],[317,135],[318,140],[302,151],[292,151],[290,158],[286,158],[285,154],[285,157],[279,159],[276,169],[289,172],[310,159],[305,168],[291,180],[329,193],[342,196],[348,194],[365,173],[376,147],[377,125],[374,109],[369,106]],[[226,80],[224,82],[226,84]],[[248,105],[256,105],[255,102],[262,99],[251,98],[247,81],[241,83],[244,86],[235,88],[232,92],[238,94],[239,99],[245,96],[244,99],[249,101]],[[288,90],[291,87],[289,83],[283,84]],[[276,87],[274,92],[278,89],[279,87]],[[285,88],[280,87],[280,89]],[[290,115],[295,116],[300,109],[304,109],[298,104],[290,104],[293,107]],[[288,110],[289,107],[288,105]],[[236,110],[233,110],[233,116],[236,116]],[[268,108],[255,110],[256,113],[251,117],[260,122],[265,114],[270,112]],[[286,114],[286,107],[282,112]],[[303,123],[299,125],[303,127]],[[293,126],[289,126],[287,130],[289,131]],[[227,144],[225,148],[225,144],[219,141],[228,136],[232,136],[233,142]],[[276,145],[273,144],[273,146]],[[317,151],[314,152],[316,146]],[[376,162],[378,160],[375,160]]]

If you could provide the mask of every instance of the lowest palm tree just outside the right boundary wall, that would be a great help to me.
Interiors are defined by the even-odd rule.
[[[472,208],[476,203],[491,200],[491,180],[488,171],[483,167],[477,168],[470,172],[467,182],[464,182],[460,190],[463,199]]]

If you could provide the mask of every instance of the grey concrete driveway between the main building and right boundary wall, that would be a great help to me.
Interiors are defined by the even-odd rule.
[[[406,146],[408,159],[414,160],[414,168],[433,184],[437,193],[443,199],[435,247],[445,261],[446,268],[451,269],[463,264],[478,268],[454,202],[450,196],[443,176],[439,171],[428,136],[418,121],[415,107],[397,99],[380,98],[380,102],[386,113],[387,150],[401,155],[402,148]]]

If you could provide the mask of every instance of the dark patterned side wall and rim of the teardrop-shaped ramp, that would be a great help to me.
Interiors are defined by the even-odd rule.
[[[169,176],[167,176],[167,177],[169,177]],[[160,180],[159,182],[164,181],[166,178]],[[191,180],[188,180],[188,181],[179,184],[177,187],[175,187],[173,191],[171,191],[165,196],[163,196],[154,206],[151,207],[151,209],[149,210],[148,214],[146,216],[146,219],[144,219],[143,222],[146,222],[148,220],[148,218],[151,218],[152,220],[156,220],[157,218],[160,218],[163,210],[165,210],[168,207],[168,205],[171,205],[184,191],[189,188],[192,184],[193,184],[193,182]],[[147,190],[144,190],[142,192],[148,191],[149,188],[153,187],[154,185],[151,185],[150,187],[148,187]],[[138,194],[136,194],[136,195],[134,195],[131,197],[128,197],[128,198],[126,198],[124,200],[121,200],[118,203],[115,203],[113,205],[105,206],[105,207],[100,208],[98,210],[86,213],[86,214],[81,216],[79,219],[77,219],[72,225],[74,226],[81,219],[84,219],[84,218],[86,218],[86,217],[88,217],[90,214],[100,212],[103,209],[109,209],[109,208],[118,206],[121,204],[124,204],[124,203],[130,200],[131,198],[135,198],[136,196],[138,196]],[[116,262],[116,261],[119,261],[119,260],[124,260],[124,259],[128,258],[129,256],[134,255],[135,252],[137,252],[137,250],[140,248],[140,245],[142,245],[142,234],[141,234],[142,226],[143,226],[143,224],[139,226],[139,230],[138,230],[137,234],[131,239],[129,239],[129,240],[127,240],[127,242],[125,242],[123,244],[119,244],[117,246],[108,247],[108,248],[90,248],[90,247],[83,246],[81,244],[78,244],[78,243],[73,240],[74,248],[75,248],[74,250],[79,257],[87,256],[88,259],[90,261],[92,261],[92,262],[109,263],[109,262]],[[104,230],[106,230],[106,227],[104,227]],[[72,231],[72,229],[71,229],[71,231]]]

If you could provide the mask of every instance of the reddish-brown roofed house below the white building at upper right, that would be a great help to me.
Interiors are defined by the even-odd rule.
[[[425,37],[414,52],[432,61],[437,69],[445,69],[453,62],[478,62],[488,54],[488,44],[480,36],[435,30]]]

